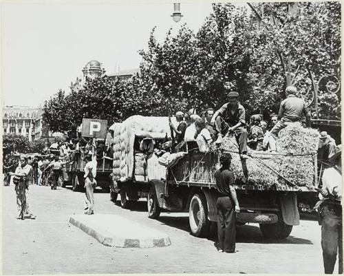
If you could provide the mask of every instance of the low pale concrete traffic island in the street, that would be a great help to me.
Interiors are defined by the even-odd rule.
[[[149,248],[171,244],[166,234],[119,215],[72,215],[69,223],[106,246]]]

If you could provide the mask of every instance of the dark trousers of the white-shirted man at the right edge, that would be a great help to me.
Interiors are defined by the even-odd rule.
[[[341,206],[325,205],[321,210],[321,247],[325,274],[332,274],[338,251],[338,273],[343,274],[343,231]]]

